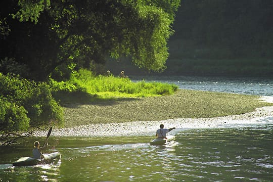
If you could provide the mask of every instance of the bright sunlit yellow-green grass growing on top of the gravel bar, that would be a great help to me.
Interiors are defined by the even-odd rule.
[[[72,76],[72,84],[81,85],[89,94],[99,96],[119,97],[147,97],[173,94],[177,90],[176,85],[159,82],[148,83],[145,81],[132,82],[129,78],[120,78],[113,75],[94,77],[90,71],[79,70],[79,76]]]

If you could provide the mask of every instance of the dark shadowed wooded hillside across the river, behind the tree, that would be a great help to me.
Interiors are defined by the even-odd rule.
[[[271,0],[181,1],[163,74],[273,76],[272,20]]]

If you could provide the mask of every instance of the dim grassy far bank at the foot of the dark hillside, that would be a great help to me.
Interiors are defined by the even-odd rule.
[[[155,73],[134,66],[130,60],[120,59],[118,62],[108,61],[101,70],[110,70],[118,75],[120,71],[130,76],[239,76],[239,77],[273,77],[273,61],[266,58],[203,58],[184,57],[170,54],[166,61],[166,69]],[[100,70],[99,70],[100,71]]]

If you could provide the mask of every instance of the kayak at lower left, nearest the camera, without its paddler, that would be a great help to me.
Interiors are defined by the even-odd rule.
[[[50,164],[54,161],[58,161],[61,158],[60,152],[54,152],[50,154],[42,154],[44,156],[43,159],[36,159],[33,157],[21,157],[17,161],[13,162],[14,166],[31,166],[37,164]]]

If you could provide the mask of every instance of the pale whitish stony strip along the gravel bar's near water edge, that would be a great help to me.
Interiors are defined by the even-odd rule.
[[[273,97],[261,97],[268,103],[273,103]],[[95,123],[74,127],[53,129],[52,136],[145,136],[154,135],[159,125],[163,123],[166,128],[176,127],[173,134],[185,129],[222,128],[235,125],[264,124],[265,118],[273,118],[273,106],[257,108],[245,114],[210,117],[210,118],[177,118],[157,121],[132,121],[123,123]],[[273,120],[271,121],[273,123]],[[37,131],[34,136],[44,136],[47,131]]]

